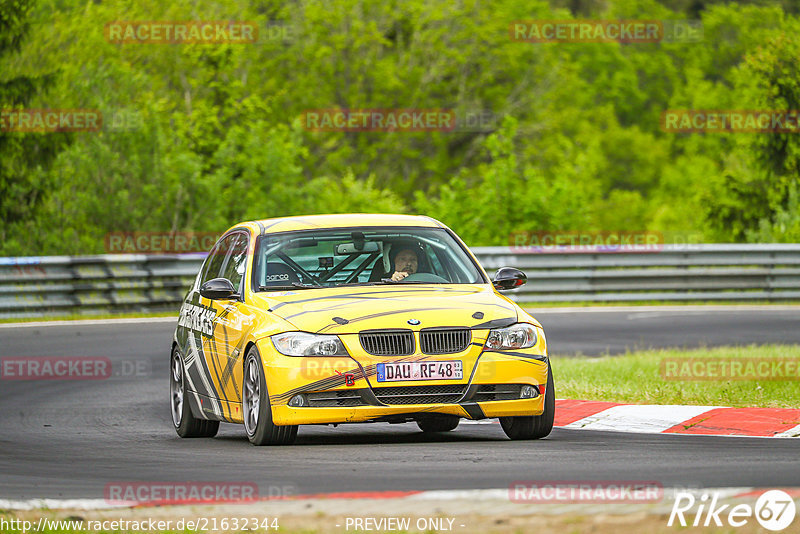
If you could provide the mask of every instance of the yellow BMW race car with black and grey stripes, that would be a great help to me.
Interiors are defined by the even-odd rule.
[[[255,445],[298,425],[416,422],[446,432],[499,417],[511,439],[553,427],[541,325],[498,291],[444,224],[409,215],[315,215],[238,224],[206,258],[172,343],[181,437],[243,423]]]

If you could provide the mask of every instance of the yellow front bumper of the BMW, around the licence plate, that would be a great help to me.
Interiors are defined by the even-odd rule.
[[[428,414],[449,414],[467,419],[489,417],[541,415],[544,411],[545,385],[547,384],[547,357],[538,354],[537,348],[515,352],[480,352],[475,356],[448,355],[431,359],[471,359],[465,363],[465,377],[460,381],[404,381],[376,382],[374,365],[361,361],[359,364],[349,357],[293,358],[283,356],[270,346],[259,347],[264,360],[267,388],[270,393],[272,420],[276,425],[304,425],[330,423],[357,423],[381,420],[402,420],[424,417]],[[419,355],[422,356],[422,355]],[[385,359],[384,359],[385,360]],[[474,362],[474,365],[473,365]],[[535,386],[539,395],[528,399],[482,400],[486,395],[475,395],[480,386],[521,387]],[[387,388],[419,391],[421,388],[454,388],[463,395],[452,394],[450,402],[424,402],[408,404],[386,404],[381,392]],[[460,389],[459,387],[460,386]],[[417,388],[417,389],[414,389]],[[506,388],[508,389],[508,388]],[[289,406],[295,395],[306,399],[317,394],[325,397],[342,395],[350,398],[348,406]],[[353,400],[352,397],[360,397]],[[413,396],[412,396],[413,397]],[[499,396],[498,396],[499,397]],[[435,398],[431,396],[430,398]],[[412,398],[413,400],[413,398]],[[405,402],[405,401],[403,401]]]

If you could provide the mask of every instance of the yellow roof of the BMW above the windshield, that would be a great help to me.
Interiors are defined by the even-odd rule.
[[[297,217],[278,217],[237,224],[248,227],[256,234],[271,234],[294,230],[314,230],[323,228],[358,228],[366,226],[421,226],[427,228],[446,228],[436,219],[424,215],[399,215],[386,213],[337,213],[330,215],[301,215]]]

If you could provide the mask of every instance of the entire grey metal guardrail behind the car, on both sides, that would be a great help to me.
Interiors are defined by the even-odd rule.
[[[589,250],[589,249],[584,249]],[[517,267],[511,298],[536,302],[800,300],[800,244],[664,246],[648,252],[472,251]],[[0,258],[0,318],[174,310],[203,254]]]

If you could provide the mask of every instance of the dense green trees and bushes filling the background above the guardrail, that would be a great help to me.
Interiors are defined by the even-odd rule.
[[[471,245],[521,231],[798,239],[795,135],[674,134],[667,109],[800,109],[791,2],[0,0],[0,107],[99,109],[99,132],[0,131],[0,255],[114,231],[424,213]],[[703,39],[535,44],[531,19],[701,18]],[[239,20],[255,44],[113,44],[112,21]],[[315,109],[495,117],[314,132]]]

